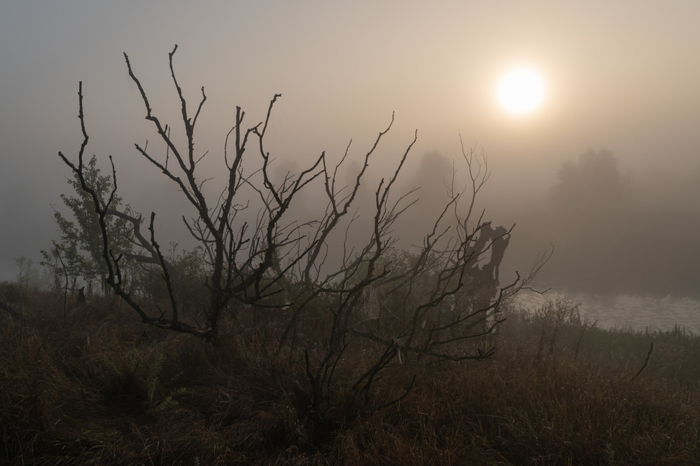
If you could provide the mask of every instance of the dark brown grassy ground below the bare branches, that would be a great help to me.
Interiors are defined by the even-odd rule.
[[[211,345],[144,328],[117,300],[61,307],[35,293],[25,323],[0,316],[2,464],[700,461],[700,339],[602,330],[565,300],[511,310],[474,343],[496,344],[488,361],[402,358],[368,402],[340,374],[323,422],[307,413],[302,356],[265,335]]]

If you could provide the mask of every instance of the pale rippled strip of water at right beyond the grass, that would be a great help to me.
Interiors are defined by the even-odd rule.
[[[552,289],[544,295],[521,291],[516,306],[537,310],[545,300],[566,298],[579,304],[583,319],[597,321],[601,328],[631,328],[632,330],[673,330],[674,326],[700,333],[700,300],[678,296],[603,295],[559,291]]]

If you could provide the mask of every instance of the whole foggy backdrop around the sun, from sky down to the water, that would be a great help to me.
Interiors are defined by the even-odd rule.
[[[391,176],[417,129],[399,180],[422,186],[395,232],[406,242],[444,202],[462,138],[488,157],[484,219],[515,225],[504,273],[527,272],[553,246],[543,286],[696,296],[698,17],[694,1],[10,2],[0,7],[0,280],[59,237],[51,205],[70,193],[70,172],[57,153],[75,159],[82,141],[80,81],[87,154],[103,168],[114,157],[120,196],[158,212],[162,243],[188,241],[179,217],[192,212],[134,149],[156,134],[123,57],[181,140],[167,61],[178,44],[190,111],[207,94],[196,144],[209,151],[201,167],[215,196],[236,105],[253,126],[282,94],[268,139],[280,174],[322,151],[339,161],[352,140],[348,180],[393,114],[366,189]],[[546,95],[514,116],[495,89],[521,64],[542,74]]]

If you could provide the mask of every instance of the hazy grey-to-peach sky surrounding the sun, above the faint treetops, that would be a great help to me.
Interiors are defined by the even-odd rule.
[[[542,191],[562,161],[608,147],[626,171],[696,169],[700,160],[700,2],[3,1],[0,6],[0,279],[57,238],[50,204],[81,142],[115,156],[125,201],[148,212],[164,183],[133,144],[155,139],[123,52],[155,112],[177,123],[167,54],[186,96],[208,101],[198,146],[221,154],[235,116],[274,112],[278,156],[357,153],[385,128],[381,157],[415,129],[414,158],[478,143],[491,195]],[[515,117],[496,100],[513,66],[545,80],[545,101]],[[285,153],[281,153],[285,152]],[[211,163],[216,163],[212,159]],[[162,195],[162,194],[161,194]],[[155,201],[153,201],[155,202]]]

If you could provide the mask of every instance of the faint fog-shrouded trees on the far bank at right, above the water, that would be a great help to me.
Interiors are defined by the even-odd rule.
[[[609,150],[562,163],[541,224],[556,254],[540,279],[582,291],[699,296],[700,170],[625,174]],[[694,182],[692,180],[695,180]]]

